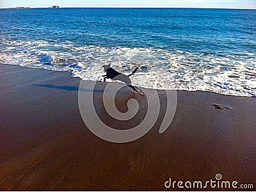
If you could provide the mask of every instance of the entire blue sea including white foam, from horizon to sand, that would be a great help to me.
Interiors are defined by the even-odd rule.
[[[256,96],[256,10],[0,10],[0,63],[100,80],[111,63],[157,89]]]

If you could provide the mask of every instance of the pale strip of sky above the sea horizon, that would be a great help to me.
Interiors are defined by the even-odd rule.
[[[0,0],[0,8],[17,6],[49,7],[155,7],[155,8],[247,8],[256,9],[256,0]]]

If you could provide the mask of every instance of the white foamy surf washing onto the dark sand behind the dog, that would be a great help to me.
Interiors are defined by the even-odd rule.
[[[0,40],[0,63],[68,71],[73,77],[101,81],[102,65],[130,74],[145,88],[210,91],[256,97],[256,57],[253,52],[213,54],[157,48],[79,46],[72,42]]]

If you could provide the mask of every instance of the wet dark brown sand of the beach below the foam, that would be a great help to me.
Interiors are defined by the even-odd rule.
[[[0,78],[1,190],[164,190],[170,177],[205,182],[217,173],[256,188],[255,98],[178,92],[177,111],[163,134],[161,115],[139,140],[110,143],[81,118],[80,79],[12,65],[0,65]],[[116,102],[121,111],[127,98],[144,102],[124,92]],[[100,101],[102,92],[95,97]],[[102,102],[97,105],[104,122],[111,121]],[[136,124],[111,122],[117,129]]]

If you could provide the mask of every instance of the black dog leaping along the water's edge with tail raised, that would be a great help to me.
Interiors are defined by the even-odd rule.
[[[131,79],[129,78],[138,70],[138,68],[135,68],[134,71],[129,74],[129,76],[125,76],[124,74],[121,74],[120,72],[117,72],[115,69],[111,68],[110,65],[111,64],[102,66],[104,67],[104,72],[107,72],[106,75],[102,76],[104,77],[104,82],[106,82],[106,79],[122,81],[127,84],[127,86],[131,87],[134,92],[138,92],[138,90],[136,90],[134,86],[132,86]]]

